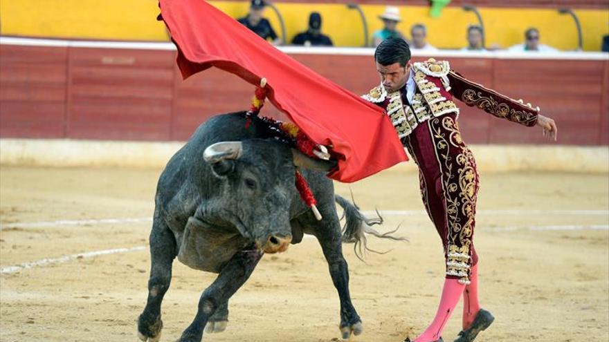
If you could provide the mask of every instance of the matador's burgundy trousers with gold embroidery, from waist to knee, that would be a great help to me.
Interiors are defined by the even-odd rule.
[[[478,263],[473,231],[479,175],[456,117],[422,122],[402,142],[419,166],[423,202],[444,245],[446,278],[469,284],[471,267]]]

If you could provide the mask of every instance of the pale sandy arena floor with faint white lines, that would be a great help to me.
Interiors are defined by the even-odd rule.
[[[138,341],[159,173],[0,168],[0,341]],[[365,329],[352,341],[403,341],[435,314],[442,246],[417,184],[417,175],[397,168],[351,185],[363,209],[403,211],[386,214],[382,229],[401,223],[410,238],[372,240],[392,251],[370,254],[367,264],[345,245]],[[337,191],[349,196],[346,184]],[[609,341],[608,175],[482,171],[478,209],[481,302],[496,316],[478,341]],[[118,248],[127,250],[73,256]],[[174,263],[162,341],[188,326],[213,278]],[[446,341],[460,331],[460,310]],[[327,264],[316,240],[306,239],[263,258],[230,301],[226,332],[203,341],[339,341],[338,321]]]

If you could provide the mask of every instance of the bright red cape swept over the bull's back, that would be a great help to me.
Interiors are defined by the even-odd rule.
[[[311,140],[332,145],[338,169],[355,182],[408,160],[383,110],[318,75],[203,0],[160,0],[184,78],[212,66],[258,85]]]

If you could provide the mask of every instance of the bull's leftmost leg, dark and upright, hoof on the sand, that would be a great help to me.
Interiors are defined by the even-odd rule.
[[[142,341],[156,342],[161,339],[161,302],[169,289],[172,263],[176,257],[174,234],[165,222],[155,218],[150,232],[150,278],[146,307],[138,318],[138,336]]]

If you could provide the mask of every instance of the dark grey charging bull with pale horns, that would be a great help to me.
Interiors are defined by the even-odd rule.
[[[226,328],[228,300],[263,254],[284,251],[290,243],[299,243],[303,234],[316,236],[329,265],[340,297],[343,338],[360,334],[361,319],[349,296],[341,242],[365,245],[365,233],[380,235],[370,227],[374,221],[334,195],[334,186],[323,172],[331,164],[325,163],[272,139],[260,119],[253,118],[246,129],[244,113],[218,115],[199,126],[158,180],[149,238],[148,298],[138,319],[140,339],[160,339],[161,301],[176,256],[189,267],[218,274],[201,294],[194,321],[179,339],[199,342],[206,326],[208,332]],[[296,190],[295,164],[316,196],[322,220],[316,220]],[[347,216],[344,234],[335,200]]]

